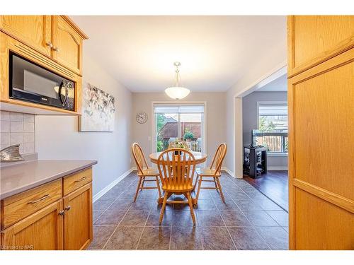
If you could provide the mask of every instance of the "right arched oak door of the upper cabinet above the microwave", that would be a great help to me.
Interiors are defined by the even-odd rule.
[[[52,57],[59,64],[81,74],[82,38],[61,16],[52,16]]]

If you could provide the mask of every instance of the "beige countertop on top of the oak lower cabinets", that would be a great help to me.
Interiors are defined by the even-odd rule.
[[[97,164],[96,160],[32,160],[0,168],[0,200]]]

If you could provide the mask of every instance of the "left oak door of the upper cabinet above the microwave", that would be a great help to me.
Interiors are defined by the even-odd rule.
[[[51,16],[0,16],[0,28],[50,57],[51,19]]]

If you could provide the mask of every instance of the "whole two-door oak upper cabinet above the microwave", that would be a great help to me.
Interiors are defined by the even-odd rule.
[[[0,16],[0,30],[81,76],[88,37],[68,16]]]

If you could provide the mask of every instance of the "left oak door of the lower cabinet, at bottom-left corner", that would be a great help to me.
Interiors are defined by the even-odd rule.
[[[33,213],[1,232],[4,249],[62,249],[62,201]]]

